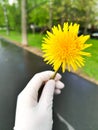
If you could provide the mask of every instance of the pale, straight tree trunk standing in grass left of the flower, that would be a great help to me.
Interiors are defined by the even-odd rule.
[[[21,11],[22,11],[22,17],[21,17],[21,28],[22,28],[22,45],[27,46],[28,40],[27,40],[27,12],[26,12],[26,2],[27,0],[21,1]]]

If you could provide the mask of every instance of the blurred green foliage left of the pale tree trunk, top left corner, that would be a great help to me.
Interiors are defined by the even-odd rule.
[[[6,8],[6,15],[8,19],[8,26],[12,30],[20,31],[21,28],[21,9],[19,4],[12,4],[8,3],[8,0],[0,1],[0,27],[6,27],[6,19],[4,16],[4,8]]]

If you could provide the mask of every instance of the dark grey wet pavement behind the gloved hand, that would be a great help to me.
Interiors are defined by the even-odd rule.
[[[17,95],[48,69],[42,58],[0,40],[0,130],[13,130]],[[98,86],[67,71],[62,77],[66,87],[54,98],[53,130],[98,130]]]

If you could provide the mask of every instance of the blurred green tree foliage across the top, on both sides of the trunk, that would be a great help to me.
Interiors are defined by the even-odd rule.
[[[21,30],[21,1],[9,5],[7,8],[9,26],[11,29]],[[50,4],[51,3],[51,4]],[[27,0],[27,22],[37,26],[50,26],[51,24],[63,24],[65,21],[80,23],[82,27],[89,24],[98,24],[96,0]],[[5,25],[3,5],[0,1],[0,26]]]

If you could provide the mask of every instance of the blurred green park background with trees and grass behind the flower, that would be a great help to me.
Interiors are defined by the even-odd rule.
[[[46,31],[64,22],[91,36],[92,56],[79,72],[98,80],[98,0],[0,0],[0,36],[22,45],[40,49]]]

